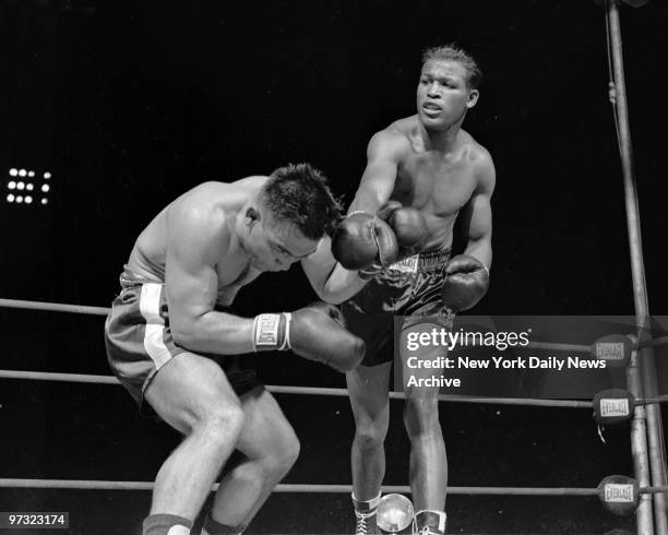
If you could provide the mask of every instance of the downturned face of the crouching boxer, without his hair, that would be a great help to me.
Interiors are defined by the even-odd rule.
[[[246,240],[251,264],[260,271],[288,270],[317,248],[318,240],[306,238],[295,225],[271,217],[263,217],[253,225]]]

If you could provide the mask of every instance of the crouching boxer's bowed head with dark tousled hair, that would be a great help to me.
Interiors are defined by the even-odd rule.
[[[320,171],[290,164],[272,173],[244,216],[243,247],[253,266],[281,271],[315,251],[339,221],[341,205]]]

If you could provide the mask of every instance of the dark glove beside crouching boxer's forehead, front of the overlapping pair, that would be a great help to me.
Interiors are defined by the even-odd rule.
[[[332,254],[346,270],[363,270],[374,263],[390,265],[397,252],[390,225],[368,212],[348,214],[332,237]]]

